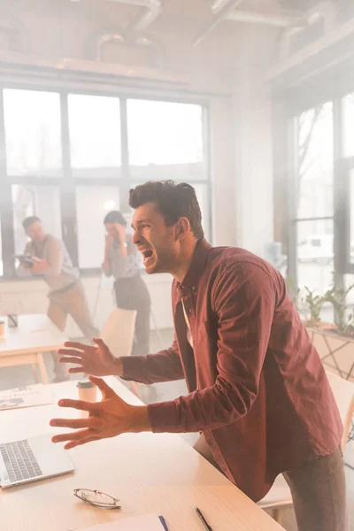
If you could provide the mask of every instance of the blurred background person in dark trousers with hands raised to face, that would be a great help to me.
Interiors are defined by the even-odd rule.
[[[139,254],[132,236],[127,235],[127,221],[118,211],[104,218],[106,230],[104,263],[106,276],[113,275],[118,308],[136,310],[133,354],[149,351],[150,295],[139,271]]]

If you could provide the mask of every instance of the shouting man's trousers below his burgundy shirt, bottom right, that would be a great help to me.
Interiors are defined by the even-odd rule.
[[[298,531],[349,531],[342,450],[284,473]]]

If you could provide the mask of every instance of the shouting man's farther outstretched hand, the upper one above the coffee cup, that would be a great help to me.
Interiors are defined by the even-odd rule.
[[[122,376],[122,364],[114,358],[111,350],[102,339],[93,338],[94,346],[81,342],[67,341],[58,350],[60,363],[72,363],[75,366],[69,373],[95,374],[95,376]]]

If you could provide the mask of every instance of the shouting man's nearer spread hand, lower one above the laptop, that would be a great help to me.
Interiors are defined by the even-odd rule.
[[[80,444],[98,441],[107,437],[115,437],[124,433],[151,431],[146,405],[130,405],[124,402],[101,378],[89,376],[102,392],[101,402],[84,402],[82,400],[59,400],[61,407],[89,412],[88,419],[51,419],[50,426],[76,429],[70,433],[54,435],[53,443],[65,443],[65,450]]]

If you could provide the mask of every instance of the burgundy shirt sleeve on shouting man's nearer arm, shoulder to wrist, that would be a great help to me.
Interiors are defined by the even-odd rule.
[[[218,317],[215,383],[206,389],[149,405],[154,432],[195,432],[241,419],[258,396],[276,307],[273,279],[257,265],[226,266],[212,291]]]

